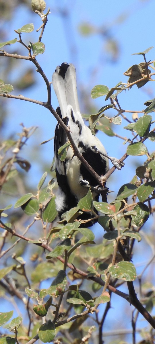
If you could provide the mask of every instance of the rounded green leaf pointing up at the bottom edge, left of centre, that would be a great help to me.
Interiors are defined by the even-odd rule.
[[[38,335],[43,343],[51,343],[55,338],[55,326],[51,320],[40,326]]]

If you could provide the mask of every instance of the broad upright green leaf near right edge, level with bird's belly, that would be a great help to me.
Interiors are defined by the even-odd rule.
[[[147,136],[151,127],[152,116],[144,115],[140,117],[134,125],[133,130],[140,136]]]

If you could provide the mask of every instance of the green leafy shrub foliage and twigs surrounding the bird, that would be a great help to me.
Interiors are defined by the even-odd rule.
[[[68,128],[51,105],[51,85],[36,59],[36,56],[43,54],[45,50],[45,45],[41,40],[47,24],[49,10],[45,14],[43,13],[45,10],[43,0],[32,1],[32,9],[42,20],[38,42],[30,42],[29,45],[24,43],[21,34],[30,34],[34,30],[34,26],[32,23],[23,25],[22,28],[15,30],[18,38],[0,43],[0,47],[5,46],[5,49],[7,49],[7,45],[19,42],[24,46],[28,55],[10,54],[1,50],[0,56],[1,58],[28,60],[31,64],[34,64],[46,84],[47,101],[43,102],[22,95],[10,94],[13,92],[13,86],[5,84],[3,80],[0,80],[0,96],[7,99],[15,98],[19,99],[19,101],[30,101],[47,108],[66,131],[70,141],[61,147],[59,151],[60,158],[64,160],[66,149],[70,144],[75,154],[77,154],[77,148],[71,133],[67,131]],[[84,27],[81,29],[86,30]],[[110,103],[104,105],[97,114],[90,116],[89,124],[92,132],[95,133],[97,129],[108,136],[115,136],[111,123],[115,126],[121,125],[124,113],[127,116],[129,112],[121,108],[120,101],[118,101],[120,94],[124,94],[125,90],[132,87],[141,88],[147,82],[154,81],[152,77],[155,75],[155,62],[146,61],[146,54],[151,49],[152,47],[136,53],[140,55],[140,63],[128,68],[124,73],[129,77],[126,84],[119,82],[111,89],[104,85],[97,85],[92,89],[91,96],[93,99],[105,96],[105,100]],[[141,55],[144,61],[141,60]],[[136,168],[131,182],[126,182],[121,186],[117,197],[113,198],[110,204],[93,202],[92,193],[89,190],[87,195],[79,201],[77,207],[63,214],[62,221],[57,223],[54,179],[52,178],[49,182],[46,182],[47,172],[44,172],[42,178],[38,181],[36,189],[34,188],[32,192],[25,192],[14,203],[14,209],[19,210],[19,218],[24,216],[25,228],[22,234],[15,229],[19,219],[14,221],[9,213],[9,209],[13,213],[12,204],[0,209],[0,227],[2,229],[0,258],[5,258],[13,247],[17,248],[12,255],[14,264],[7,262],[6,266],[0,270],[1,297],[4,297],[6,293],[10,293],[23,303],[23,319],[18,316],[13,317],[11,320],[13,311],[0,313],[0,325],[5,329],[4,337],[1,338],[0,343],[21,342],[31,344],[35,343],[39,338],[43,343],[53,341],[60,343],[61,340],[69,343],[68,337],[65,335],[66,329],[69,330],[70,335],[76,330],[75,337],[72,336],[74,343],[87,341],[93,331],[96,331],[96,336],[98,336],[98,331],[102,333],[106,313],[111,307],[112,293],[115,293],[117,298],[125,299],[126,303],[133,305],[137,312],[143,315],[148,324],[151,325],[150,333],[152,335],[152,329],[155,329],[155,320],[151,316],[154,292],[150,287],[145,293],[145,298],[138,299],[133,285],[133,281],[137,278],[136,268],[132,262],[135,240],[140,242],[143,239],[139,232],[148,221],[149,216],[154,213],[152,200],[155,198],[155,153],[149,152],[147,143],[155,141],[154,120],[153,116],[149,115],[155,111],[155,99],[147,100],[144,104],[145,109],[143,111],[133,110],[133,114],[140,115],[138,119],[134,119],[134,116],[133,122],[127,119],[128,124],[124,127],[127,136],[127,138],[124,138],[124,144],[127,146],[126,153],[118,160],[117,168],[118,166],[118,169],[123,167],[122,162],[124,160],[128,163],[132,155],[136,156],[137,159],[139,156],[144,156],[143,165]],[[113,111],[112,118],[109,117],[109,109]],[[108,124],[107,121],[104,122],[105,119],[108,120]],[[30,163],[19,157],[19,153],[22,154],[22,147],[27,143],[36,128],[25,128],[24,125],[21,125],[21,127],[22,131],[18,140],[8,139],[1,142],[1,192],[3,190],[5,192],[6,184],[12,189],[12,180],[18,178],[17,165],[24,172],[28,172],[30,169]],[[128,134],[131,133],[132,139],[128,138]],[[108,180],[110,175],[115,173],[115,170],[116,167],[112,167],[104,176],[104,180]],[[123,170],[120,173],[123,173]],[[102,185],[103,179],[99,178],[99,181]],[[94,208],[100,211],[101,215],[96,215]],[[85,222],[76,221],[77,216],[84,211],[94,212],[94,217],[98,219],[99,225],[106,232],[100,244],[95,243],[92,230],[85,228],[86,225],[89,227],[89,220]],[[5,219],[8,215],[9,222]],[[30,237],[27,236],[28,231],[31,233]],[[11,237],[16,240],[13,244],[10,244]],[[25,246],[19,247],[21,242]],[[36,247],[36,252],[32,255],[31,260],[36,264],[30,275],[30,273],[26,272],[27,263],[24,261],[23,256],[25,250],[29,250],[32,245]],[[12,276],[15,282],[18,278],[20,282],[22,281],[24,297],[18,287],[14,287],[9,276]],[[40,282],[49,278],[52,278],[51,285],[48,288],[42,288]],[[124,293],[119,289],[121,284],[125,283],[127,284],[128,293]],[[99,305],[102,303],[106,304],[106,308],[101,315],[102,321],[100,321],[97,314]],[[29,324],[24,322],[24,306],[26,306]],[[94,314],[96,314],[96,318]],[[96,327],[91,326],[92,319]],[[10,322],[8,323],[8,321]],[[135,335],[136,319],[134,316],[132,322]],[[83,326],[85,332],[85,339],[81,337],[81,326]],[[7,330],[9,329],[14,332],[14,334],[11,332],[11,337],[8,336]],[[103,343],[101,337],[100,335],[99,344]]]

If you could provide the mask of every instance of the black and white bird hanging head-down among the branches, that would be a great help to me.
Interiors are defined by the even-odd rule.
[[[109,170],[109,160],[99,153],[105,154],[105,148],[85,125],[81,116],[74,65],[64,62],[61,66],[57,66],[52,76],[52,84],[60,106],[56,109],[56,112],[63,119],[65,125],[70,127],[76,147],[95,172],[100,176],[104,175]],[[74,155],[71,146],[67,150],[66,159],[64,161],[59,159],[58,149],[67,141],[66,133],[58,123],[55,128],[54,153],[56,179],[59,185],[56,196],[56,208],[59,218],[64,212],[77,206],[79,200],[87,194],[89,187],[91,187],[94,201],[99,200],[101,193],[96,179]],[[92,149],[92,147],[95,147],[95,149]],[[97,214],[96,210],[95,212]],[[85,212],[78,219],[85,220],[93,217],[94,214]],[[87,225],[91,226],[94,222],[90,221]]]

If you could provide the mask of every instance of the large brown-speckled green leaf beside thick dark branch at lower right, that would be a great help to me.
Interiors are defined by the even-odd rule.
[[[112,277],[123,281],[134,281],[136,279],[136,269],[129,261],[120,261],[117,265],[111,266],[109,272]]]

